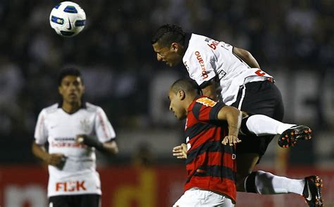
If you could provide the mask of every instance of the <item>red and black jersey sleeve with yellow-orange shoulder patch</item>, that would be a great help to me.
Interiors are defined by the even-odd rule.
[[[223,102],[215,102],[209,97],[200,97],[192,107],[192,113],[199,122],[216,123],[218,113],[224,106]]]

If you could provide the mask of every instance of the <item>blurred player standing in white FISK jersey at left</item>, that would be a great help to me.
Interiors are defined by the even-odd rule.
[[[49,165],[49,206],[99,207],[95,150],[118,153],[115,131],[101,107],[82,100],[85,86],[78,69],[61,71],[58,92],[61,102],[40,112],[32,143],[32,153]]]

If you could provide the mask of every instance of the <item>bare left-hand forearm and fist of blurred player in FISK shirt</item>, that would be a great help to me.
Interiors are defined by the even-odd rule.
[[[53,165],[55,167],[61,168],[65,164],[65,156],[61,153],[47,153],[44,146],[39,146],[37,143],[32,143],[32,153],[35,157],[43,160],[47,165]]]

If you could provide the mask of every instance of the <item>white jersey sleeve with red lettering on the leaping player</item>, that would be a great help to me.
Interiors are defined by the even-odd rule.
[[[187,68],[190,78],[201,86],[216,76],[213,65],[214,59],[216,57],[214,57],[210,49],[193,49],[187,54],[183,63]]]

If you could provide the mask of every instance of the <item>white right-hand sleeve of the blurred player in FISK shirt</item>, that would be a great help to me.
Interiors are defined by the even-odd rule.
[[[101,142],[111,141],[116,137],[113,126],[111,126],[108,117],[106,117],[106,113],[101,109],[101,107],[97,109],[95,134],[97,134],[97,138]]]

